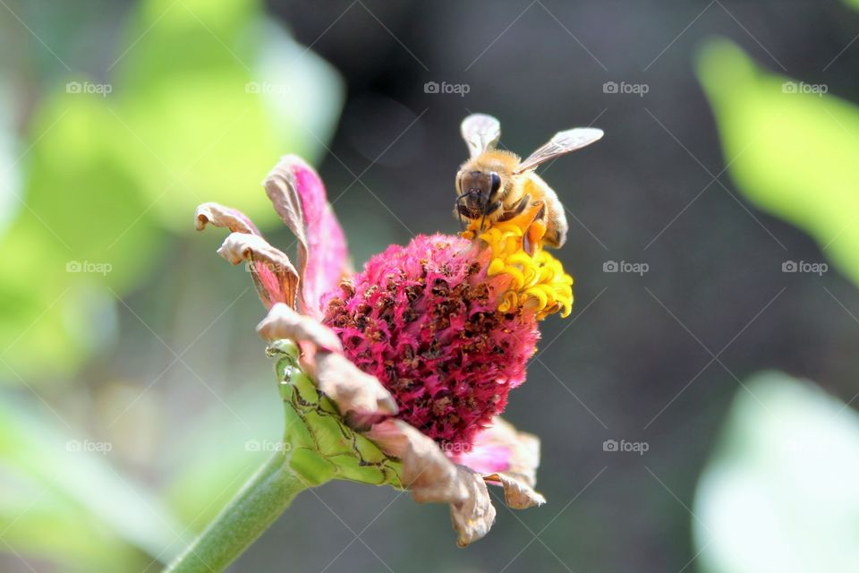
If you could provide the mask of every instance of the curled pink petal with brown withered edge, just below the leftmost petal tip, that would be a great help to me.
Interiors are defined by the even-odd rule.
[[[248,261],[257,294],[266,308],[283,303],[293,306],[298,295],[298,272],[283,252],[260,235],[231,233],[217,254],[234,265]]]

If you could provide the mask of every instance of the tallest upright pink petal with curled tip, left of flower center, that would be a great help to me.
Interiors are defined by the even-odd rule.
[[[302,312],[320,317],[319,298],[348,271],[343,228],[319,175],[302,158],[287,155],[264,182],[277,214],[298,238]]]

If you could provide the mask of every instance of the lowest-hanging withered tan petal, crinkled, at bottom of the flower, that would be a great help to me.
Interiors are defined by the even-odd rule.
[[[489,532],[495,508],[481,475],[456,466],[434,440],[402,420],[377,423],[365,435],[389,456],[403,461],[400,477],[415,501],[450,504],[461,547]]]

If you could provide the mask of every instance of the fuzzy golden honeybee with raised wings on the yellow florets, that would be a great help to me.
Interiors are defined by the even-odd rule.
[[[564,206],[534,169],[599,140],[602,130],[577,127],[558,132],[524,160],[510,151],[496,149],[501,124],[491,115],[469,115],[463,120],[461,133],[470,158],[456,174],[454,216],[460,222],[479,221],[479,231],[487,220],[491,226],[496,221],[523,217],[528,229],[523,248],[530,254],[539,242],[554,248],[563,245],[568,228]]]

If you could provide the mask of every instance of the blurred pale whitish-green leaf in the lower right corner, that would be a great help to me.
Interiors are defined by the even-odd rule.
[[[807,381],[738,390],[695,495],[706,573],[851,571],[859,562],[859,416]]]

